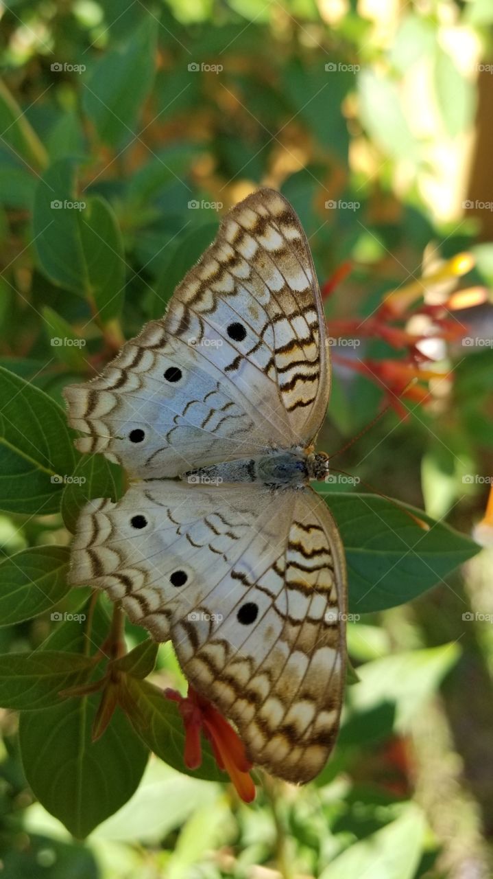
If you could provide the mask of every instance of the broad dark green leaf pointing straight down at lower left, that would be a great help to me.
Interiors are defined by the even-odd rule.
[[[101,694],[22,712],[19,744],[25,778],[39,802],[83,839],[132,796],[148,752],[119,708],[104,736],[91,741]]]

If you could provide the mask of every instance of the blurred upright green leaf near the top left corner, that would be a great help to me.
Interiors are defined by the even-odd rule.
[[[82,106],[101,139],[135,139],[136,120],[154,80],[158,21],[150,13],[122,46],[104,54],[83,82]]]

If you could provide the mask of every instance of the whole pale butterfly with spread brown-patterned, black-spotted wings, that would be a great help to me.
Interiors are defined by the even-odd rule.
[[[345,677],[339,532],[309,484],[330,391],[325,316],[297,214],[262,188],[105,367],[65,389],[76,447],[122,464],[117,503],[82,509],[70,582],[104,589],[247,756],[304,783],[325,765]]]

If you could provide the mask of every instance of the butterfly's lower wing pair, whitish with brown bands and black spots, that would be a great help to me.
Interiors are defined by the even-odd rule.
[[[346,574],[310,488],[135,483],[82,512],[71,579],[171,637],[255,763],[289,781],[319,772],[339,723]]]

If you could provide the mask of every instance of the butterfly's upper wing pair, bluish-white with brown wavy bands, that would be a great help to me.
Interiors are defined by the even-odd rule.
[[[307,446],[325,417],[325,319],[297,215],[271,190],[234,207],[176,288],[101,376],[66,389],[70,425],[134,476],[177,476]]]

